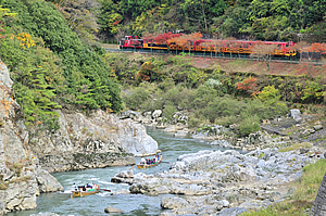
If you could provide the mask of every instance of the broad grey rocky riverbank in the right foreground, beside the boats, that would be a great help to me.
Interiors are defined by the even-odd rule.
[[[112,181],[129,183],[130,193],[166,194],[162,215],[227,215],[259,209],[291,195],[290,182],[302,175],[302,167],[323,156],[323,150],[279,152],[278,149],[200,151],[180,155],[170,170],[154,175],[131,170]]]

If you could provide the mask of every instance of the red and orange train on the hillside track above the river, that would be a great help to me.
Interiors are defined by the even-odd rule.
[[[179,35],[175,36],[179,37]],[[177,40],[165,41],[155,38],[140,38],[138,36],[125,36],[120,41],[120,49],[143,49],[143,50],[165,50],[165,51],[190,51],[190,52],[211,52],[227,54],[252,54],[259,52],[254,47],[266,45],[273,47],[268,54],[284,58],[298,58],[296,43],[292,41],[252,41],[252,40],[213,40],[193,39],[188,42],[178,43]],[[266,52],[266,51],[265,51]]]

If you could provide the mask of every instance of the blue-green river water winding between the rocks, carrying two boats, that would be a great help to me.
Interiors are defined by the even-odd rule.
[[[147,128],[150,135],[159,143],[159,149],[163,154],[163,162],[160,165],[149,169],[133,168],[134,174],[145,173],[154,174],[158,171],[168,170],[170,164],[176,161],[181,154],[198,152],[200,150],[217,150],[208,141],[196,140],[191,138],[176,138],[172,134],[163,132],[153,128]],[[221,149],[220,149],[221,150]],[[140,158],[136,158],[138,163]],[[70,189],[73,183],[99,183],[101,189],[110,189],[116,192],[123,189],[128,189],[128,185],[112,183],[111,178],[122,170],[128,170],[130,166],[106,167],[98,169],[87,169],[82,171],[65,171],[57,173],[53,176],[64,187],[64,192],[42,193],[37,198],[37,208],[32,211],[22,211],[9,213],[8,216],[29,216],[37,213],[57,213],[59,215],[74,216],[101,216],[105,215],[104,208],[112,206],[123,209],[123,213],[114,215],[160,215],[161,199],[165,195],[149,196],[143,194],[117,194],[111,195],[111,192],[100,192],[84,198],[71,199]]]

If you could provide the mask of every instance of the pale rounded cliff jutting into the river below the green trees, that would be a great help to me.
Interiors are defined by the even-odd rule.
[[[97,111],[88,117],[80,113],[57,111],[60,129],[53,135],[28,138],[42,168],[50,173],[135,164],[135,155],[154,154],[158,143],[146,128],[130,119],[121,120]]]

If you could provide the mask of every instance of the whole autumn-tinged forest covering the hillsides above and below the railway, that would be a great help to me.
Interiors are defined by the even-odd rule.
[[[263,85],[247,91],[243,85],[250,88],[250,85],[256,86],[255,77],[227,76],[225,74],[228,72],[221,71],[216,65],[211,69],[201,69],[183,56],[137,59],[110,54],[105,53],[101,43],[112,39],[118,41],[125,35],[142,37],[176,30],[201,31],[205,37],[296,41],[300,34],[325,34],[325,1],[0,0],[0,58],[14,80],[12,94],[20,104],[16,117],[24,119],[28,127],[38,127],[39,131],[53,132],[58,129],[58,114],[54,112],[58,109],[77,110],[86,114],[98,109],[108,113],[141,109],[143,104],[133,102],[134,90],[137,97],[137,89],[133,88],[149,86],[147,84],[155,85],[151,93],[158,94],[160,91],[171,94],[172,98],[165,96],[166,100],[172,100],[168,103],[165,100],[164,103],[147,106],[160,109],[161,104],[166,109],[166,115],[178,106],[187,106],[187,100],[193,101],[193,97],[198,97],[193,101],[198,104],[191,106],[198,107],[192,116],[192,126],[196,127],[202,122],[217,120],[212,117],[216,115],[214,101],[199,101],[202,93],[206,94],[205,91],[212,89],[218,97],[250,98],[252,93],[265,92],[272,98],[258,96],[261,101],[277,99],[324,103],[325,85],[309,74],[309,80],[297,85],[297,90],[290,94],[281,96],[283,89],[280,94],[273,93],[278,91],[273,82],[266,82],[273,88],[265,91]],[[310,67],[306,71],[310,73]],[[122,87],[129,89],[131,94],[122,96]],[[170,92],[167,87],[175,92]],[[139,91],[148,92],[143,88]],[[193,91],[193,96],[173,102],[173,96],[178,91]],[[145,96],[147,93],[142,93]],[[143,101],[148,99],[150,96]],[[230,98],[228,102],[237,99]],[[256,109],[265,105],[259,104]],[[284,112],[284,109],[275,106],[275,112],[258,116],[255,122],[280,111]],[[222,122],[229,124],[228,116],[238,115],[238,112],[223,115]],[[244,123],[247,117],[241,120]],[[222,122],[220,119],[218,123]],[[244,128],[239,135],[255,129]]]

